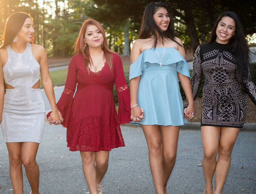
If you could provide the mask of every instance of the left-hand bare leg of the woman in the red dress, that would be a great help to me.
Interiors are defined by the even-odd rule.
[[[80,151],[84,177],[89,187],[91,194],[98,194],[97,192],[97,180],[96,180],[96,168],[95,168],[95,151]]]

